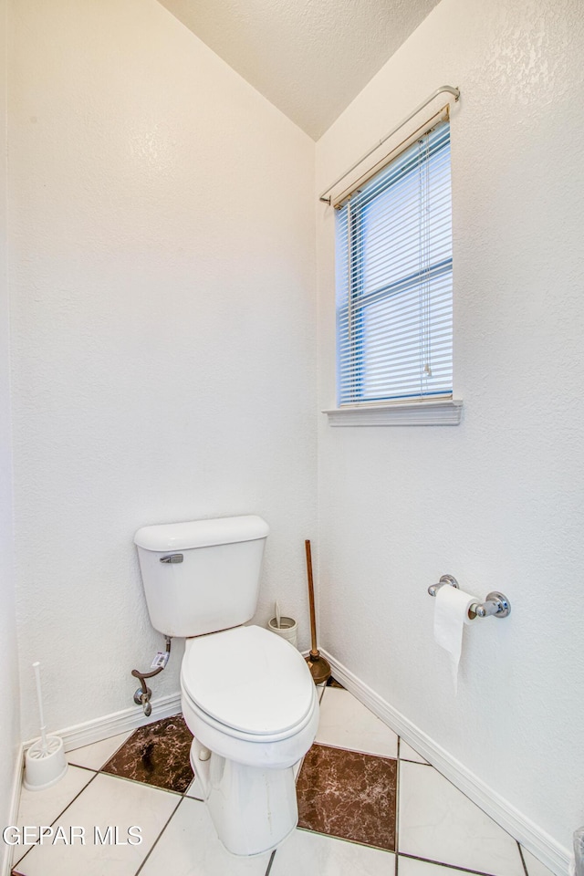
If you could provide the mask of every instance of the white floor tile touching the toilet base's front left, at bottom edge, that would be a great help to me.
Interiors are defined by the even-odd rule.
[[[264,876],[270,855],[235,858],[217,839],[204,803],[184,798],[140,876]]]

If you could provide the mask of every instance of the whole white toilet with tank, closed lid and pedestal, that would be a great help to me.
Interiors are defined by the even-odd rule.
[[[314,742],[307,663],[255,614],[269,527],[245,515],[142,527],[134,537],[155,630],[186,639],[183,716],[191,765],[219,840],[274,850],[297,826],[294,767]]]

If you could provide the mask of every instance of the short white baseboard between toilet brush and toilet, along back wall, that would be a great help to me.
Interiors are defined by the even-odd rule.
[[[170,694],[162,696],[157,700],[151,700],[151,706],[152,712],[149,717],[146,717],[141,705],[137,705],[130,709],[122,709],[121,712],[113,712],[112,714],[105,714],[100,718],[94,718],[91,721],[86,721],[85,724],[66,727],[64,730],[57,731],[54,735],[61,737],[66,751],[71,751],[73,748],[80,748],[81,746],[89,746],[92,742],[100,742],[109,736],[135,730],[136,727],[151,724],[152,721],[160,721],[161,718],[168,718],[172,714],[177,714],[177,712],[181,711],[181,694]],[[33,742],[35,742],[34,739],[29,739],[24,744],[25,751]]]

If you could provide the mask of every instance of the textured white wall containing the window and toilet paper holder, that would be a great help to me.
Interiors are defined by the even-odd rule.
[[[318,191],[443,84],[453,113],[456,428],[320,421],[322,645],[565,847],[584,822],[584,16],[442,0],[317,146]],[[334,405],[318,207],[320,407]],[[508,620],[433,643],[444,572]]]

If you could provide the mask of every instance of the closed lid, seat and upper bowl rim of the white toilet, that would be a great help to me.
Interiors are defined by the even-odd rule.
[[[181,692],[193,735],[242,764],[291,766],[317,732],[318,696],[304,658],[261,627],[188,639]]]

